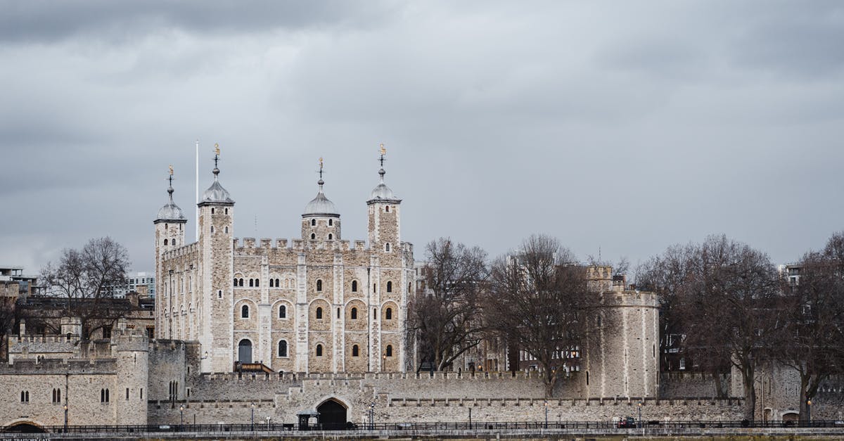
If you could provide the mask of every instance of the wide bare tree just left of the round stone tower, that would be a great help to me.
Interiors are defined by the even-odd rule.
[[[553,237],[532,236],[515,254],[496,259],[484,315],[510,351],[526,351],[544,370],[550,396],[566,368],[579,362],[586,315],[596,306],[588,295],[586,271]]]

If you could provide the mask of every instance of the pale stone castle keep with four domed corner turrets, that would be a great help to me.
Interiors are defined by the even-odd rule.
[[[402,200],[385,183],[383,153],[380,181],[365,199],[367,240],[343,238],[322,160],[317,195],[293,240],[235,236],[219,156],[198,204],[197,242],[185,241],[187,219],[170,186],[154,221],[156,338],[197,340],[209,373],[252,363],[274,372],[406,371],[414,254],[402,242]]]

